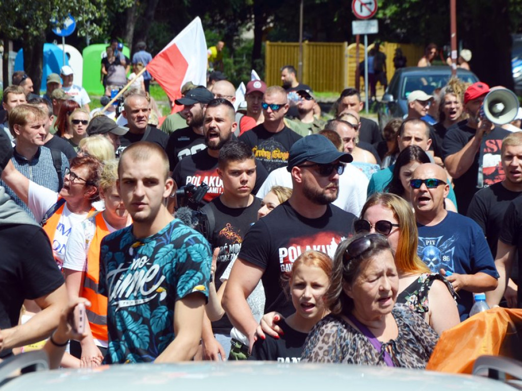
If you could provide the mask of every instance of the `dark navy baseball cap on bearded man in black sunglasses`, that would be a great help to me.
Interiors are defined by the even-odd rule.
[[[287,170],[290,172],[292,167],[304,162],[328,164],[336,160],[350,163],[353,157],[347,152],[339,152],[323,135],[310,135],[296,141],[290,148]]]

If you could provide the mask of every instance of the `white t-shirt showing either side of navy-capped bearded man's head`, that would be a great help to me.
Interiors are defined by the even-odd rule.
[[[346,212],[359,216],[366,202],[366,189],[369,182],[360,169],[350,163],[345,164],[345,172],[339,176],[339,194],[332,204]],[[259,188],[256,197],[265,198],[272,186],[276,185],[293,188],[292,176],[288,172],[287,167],[280,167],[270,172],[263,185]]]

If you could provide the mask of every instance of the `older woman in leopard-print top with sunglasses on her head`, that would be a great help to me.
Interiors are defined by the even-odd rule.
[[[396,304],[399,275],[381,234],[355,235],[337,248],[325,304],[302,361],[423,369],[438,336],[421,316]]]

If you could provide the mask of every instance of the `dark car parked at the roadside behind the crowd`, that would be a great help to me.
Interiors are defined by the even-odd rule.
[[[431,95],[436,88],[444,87],[451,76],[452,69],[448,66],[397,69],[378,104],[379,127],[383,129],[390,119],[402,118],[408,113],[408,94],[411,91],[422,90]],[[479,81],[466,69],[457,69],[457,77],[467,83]]]

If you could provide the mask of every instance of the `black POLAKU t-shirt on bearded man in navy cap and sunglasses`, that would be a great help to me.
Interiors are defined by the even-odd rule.
[[[352,235],[354,219],[353,214],[331,204],[323,216],[306,218],[286,201],[250,228],[239,258],[265,271],[265,313],[277,311],[288,316],[295,312],[281,279],[288,278],[293,262],[307,250],[322,251],[333,259],[339,243]]]

